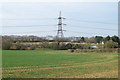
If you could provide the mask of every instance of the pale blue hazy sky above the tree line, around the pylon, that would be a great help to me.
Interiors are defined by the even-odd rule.
[[[117,2],[8,2],[2,3],[3,34],[57,34],[59,12],[66,18],[64,36],[118,35]],[[1,15],[1,14],[0,14]]]

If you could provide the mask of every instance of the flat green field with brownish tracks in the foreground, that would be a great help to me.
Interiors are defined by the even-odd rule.
[[[118,53],[3,50],[3,78],[117,78]]]

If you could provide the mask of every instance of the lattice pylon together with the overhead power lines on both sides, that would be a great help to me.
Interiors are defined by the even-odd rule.
[[[48,19],[57,19],[57,18],[31,18],[31,19],[25,19],[25,18],[19,18],[19,19],[2,19],[2,20],[48,20]],[[58,26],[57,30],[57,36],[58,37],[63,37],[63,24],[62,20],[65,18],[61,17],[61,12],[58,17],[58,24],[57,25],[22,25],[22,26],[1,26],[1,27],[41,27],[41,26]],[[87,21],[87,20],[76,20],[76,19],[67,19],[70,21],[77,21],[77,22],[87,22],[87,23],[99,23],[99,24],[112,24],[116,25],[115,23],[105,23],[105,22],[97,22],[97,21]],[[71,26],[71,25],[70,25]],[[78,28],[93,28],[93,29],[101,29],[101,30],[110,30],[110,31],[116,31],[115,29],[106,29],[106,28],[95,28],[95,27],[87,27],[87,26],[72,26],[72,27],[78,27]],[[26,34],[26,33],[40,33],[40,32],[51,32],[51,31],[32,31],[32,32],[19,32],[19,33],[10,33],[10,34]],[[53,32],[53,31],[52,31]],[[84,34],[98,34],[98,33],[89,33],[89,32],[77,32],[77,31],[67,31],[67,32],[73,32],[73,33],[84,33]],[[5,33],[3,33],[5,34]],[[8,33],[7,33],[8,34]],[[101,34],[101,33],[100,33]],[[102,34],[102,35],[108,35],[108,34]]]

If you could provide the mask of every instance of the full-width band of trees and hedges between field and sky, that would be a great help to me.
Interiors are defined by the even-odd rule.
[[[22,42],[41,42],[39,44],[22,44]],[[53,42],[53,43],[50,43]],[[66,43],[69,42],[69,43]],[[81,44],[75,44],[81,43]],[[82,44],[84,43],[84,44]],[[95,36],[95,37],[77,37],[72,41],[71,38],[57,38],[54,40],[48,40],[42,37],[11,37],[2,36],[2,49],[3,50],[35,50],[35,49],[55,49],[55,50],[67,50],[67,49],[92,49],[91,44],[95,44],[98,48],[119,48],[120,39],[118,36]],[[104,43],[104,44],[102,44]]]

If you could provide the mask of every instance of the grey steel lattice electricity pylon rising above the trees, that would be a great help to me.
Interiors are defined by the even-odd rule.
[[[57,37],[59,37],[59,38],[64,37],[64,35],[63,35],[64,30],[62,29],[62,27],[63,27],[63,25],[66,25],[66,24],[62,23],[63,19],[65,19],[65,18],[61,17],[61,11],[60,11],[59,17],[58,17],[58,30],[57,30]]]

